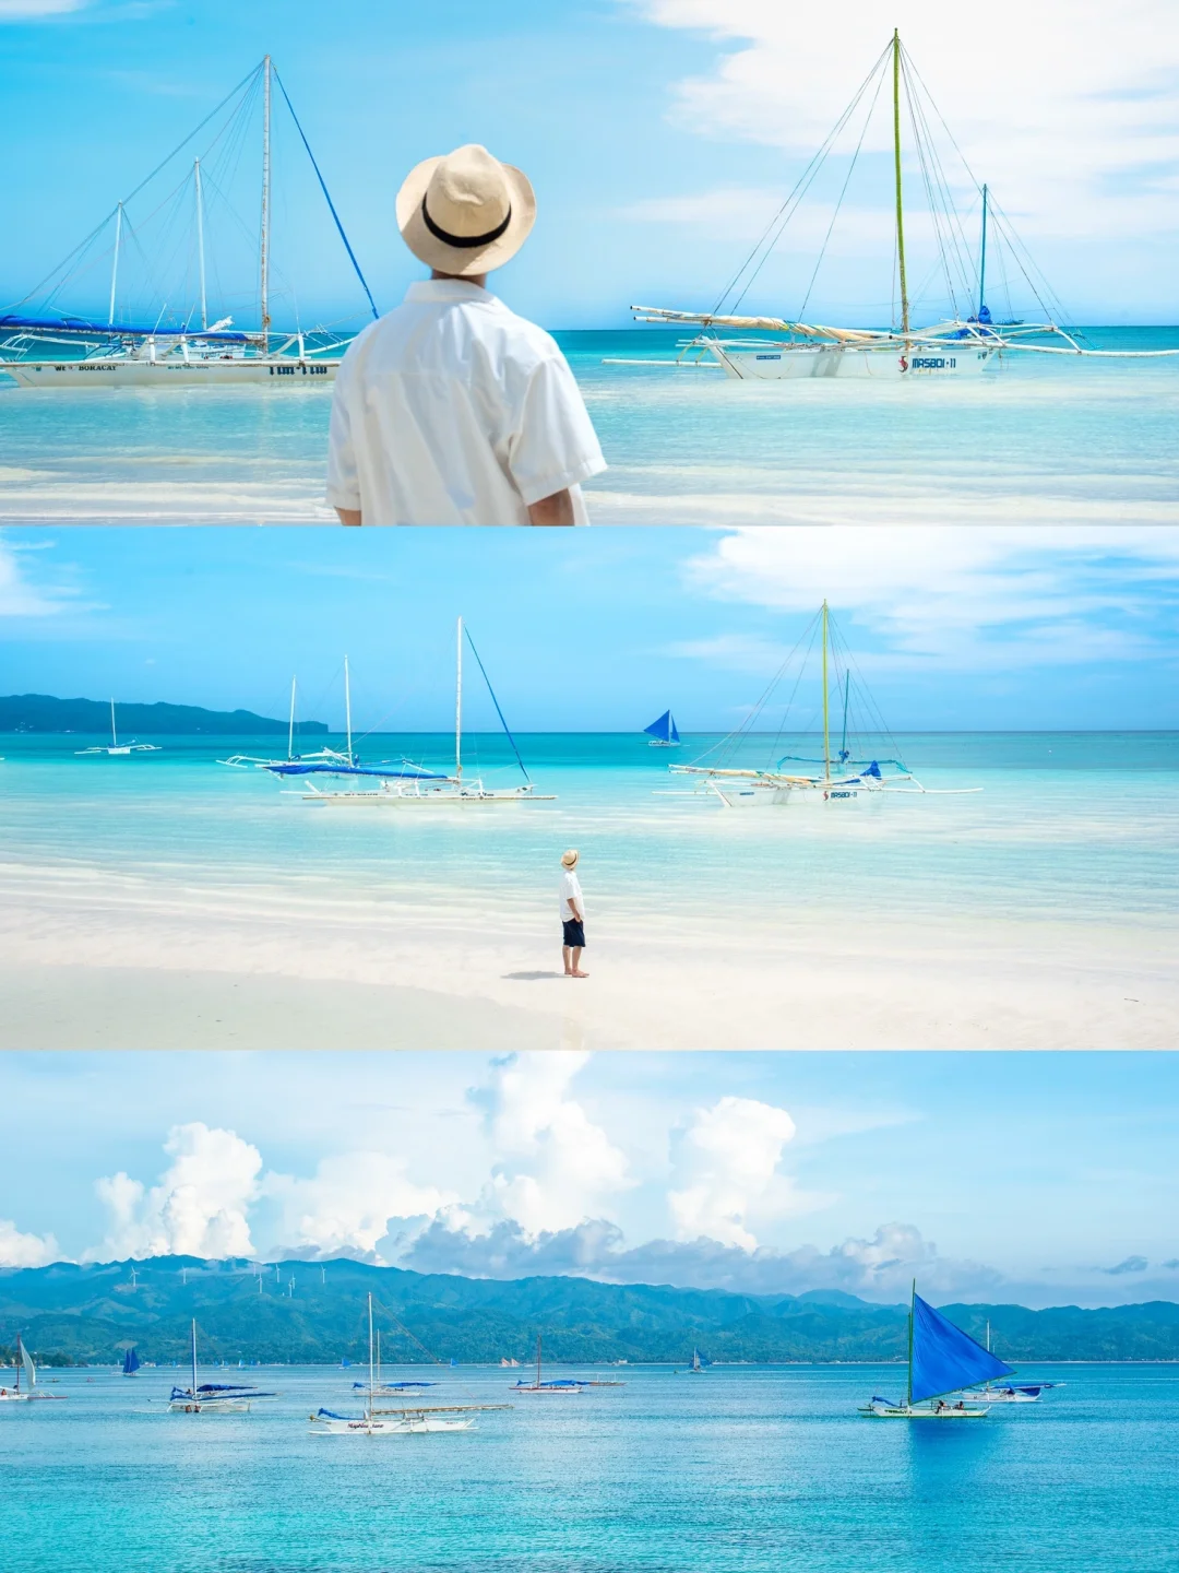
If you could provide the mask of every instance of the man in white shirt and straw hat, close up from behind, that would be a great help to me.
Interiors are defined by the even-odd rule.
[[[398,228],[431,267],[349,344],[327,500],[343,524],[588,524],[605,469],[553,338],[486,289],[536,219],[528,178],[486,148],[418,164]]]

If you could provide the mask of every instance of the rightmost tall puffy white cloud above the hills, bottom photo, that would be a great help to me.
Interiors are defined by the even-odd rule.
[[[674,1134],[668,1208],[679,1240],[700,1235],[755,1251],[753,1213],[784,1218],[800,1210],[791,1181],[778,1173],[794,1139],[784,1109],[753,1098],[722,1098],[698,1109]]]

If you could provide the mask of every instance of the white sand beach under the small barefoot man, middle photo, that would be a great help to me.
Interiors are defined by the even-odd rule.
[[[641,923],[590,978],[549,904],[274,900],[0,868],[0,1048],[1174,1048],[1174,931],[1086,922]]]

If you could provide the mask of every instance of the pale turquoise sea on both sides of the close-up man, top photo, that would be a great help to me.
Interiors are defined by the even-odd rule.
[[[1179,329],[1089,329],[1173,349]],[[567,332],[610,470],[602,524],[1179,518],[1179,357],[1011,357],[960,382],[673,371],[663,329]],[[665,367],[605,365],[615,355]],[[24,392],[0,379],[0,521],[327,519],[329,389]]]

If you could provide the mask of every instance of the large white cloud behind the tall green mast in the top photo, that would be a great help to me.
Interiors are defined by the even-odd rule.
[[[813,153],[898,25],[971,168],[1023,228],[1104,238],[1176,227],[1170,0],[997,0],[981,27],[937,0],[894,0],[887,14],[877,0],[635,3],[723,50],[712,74],[678,85],[674,120],[692,131]],[[868,151],[888,146],[887,109]]]

